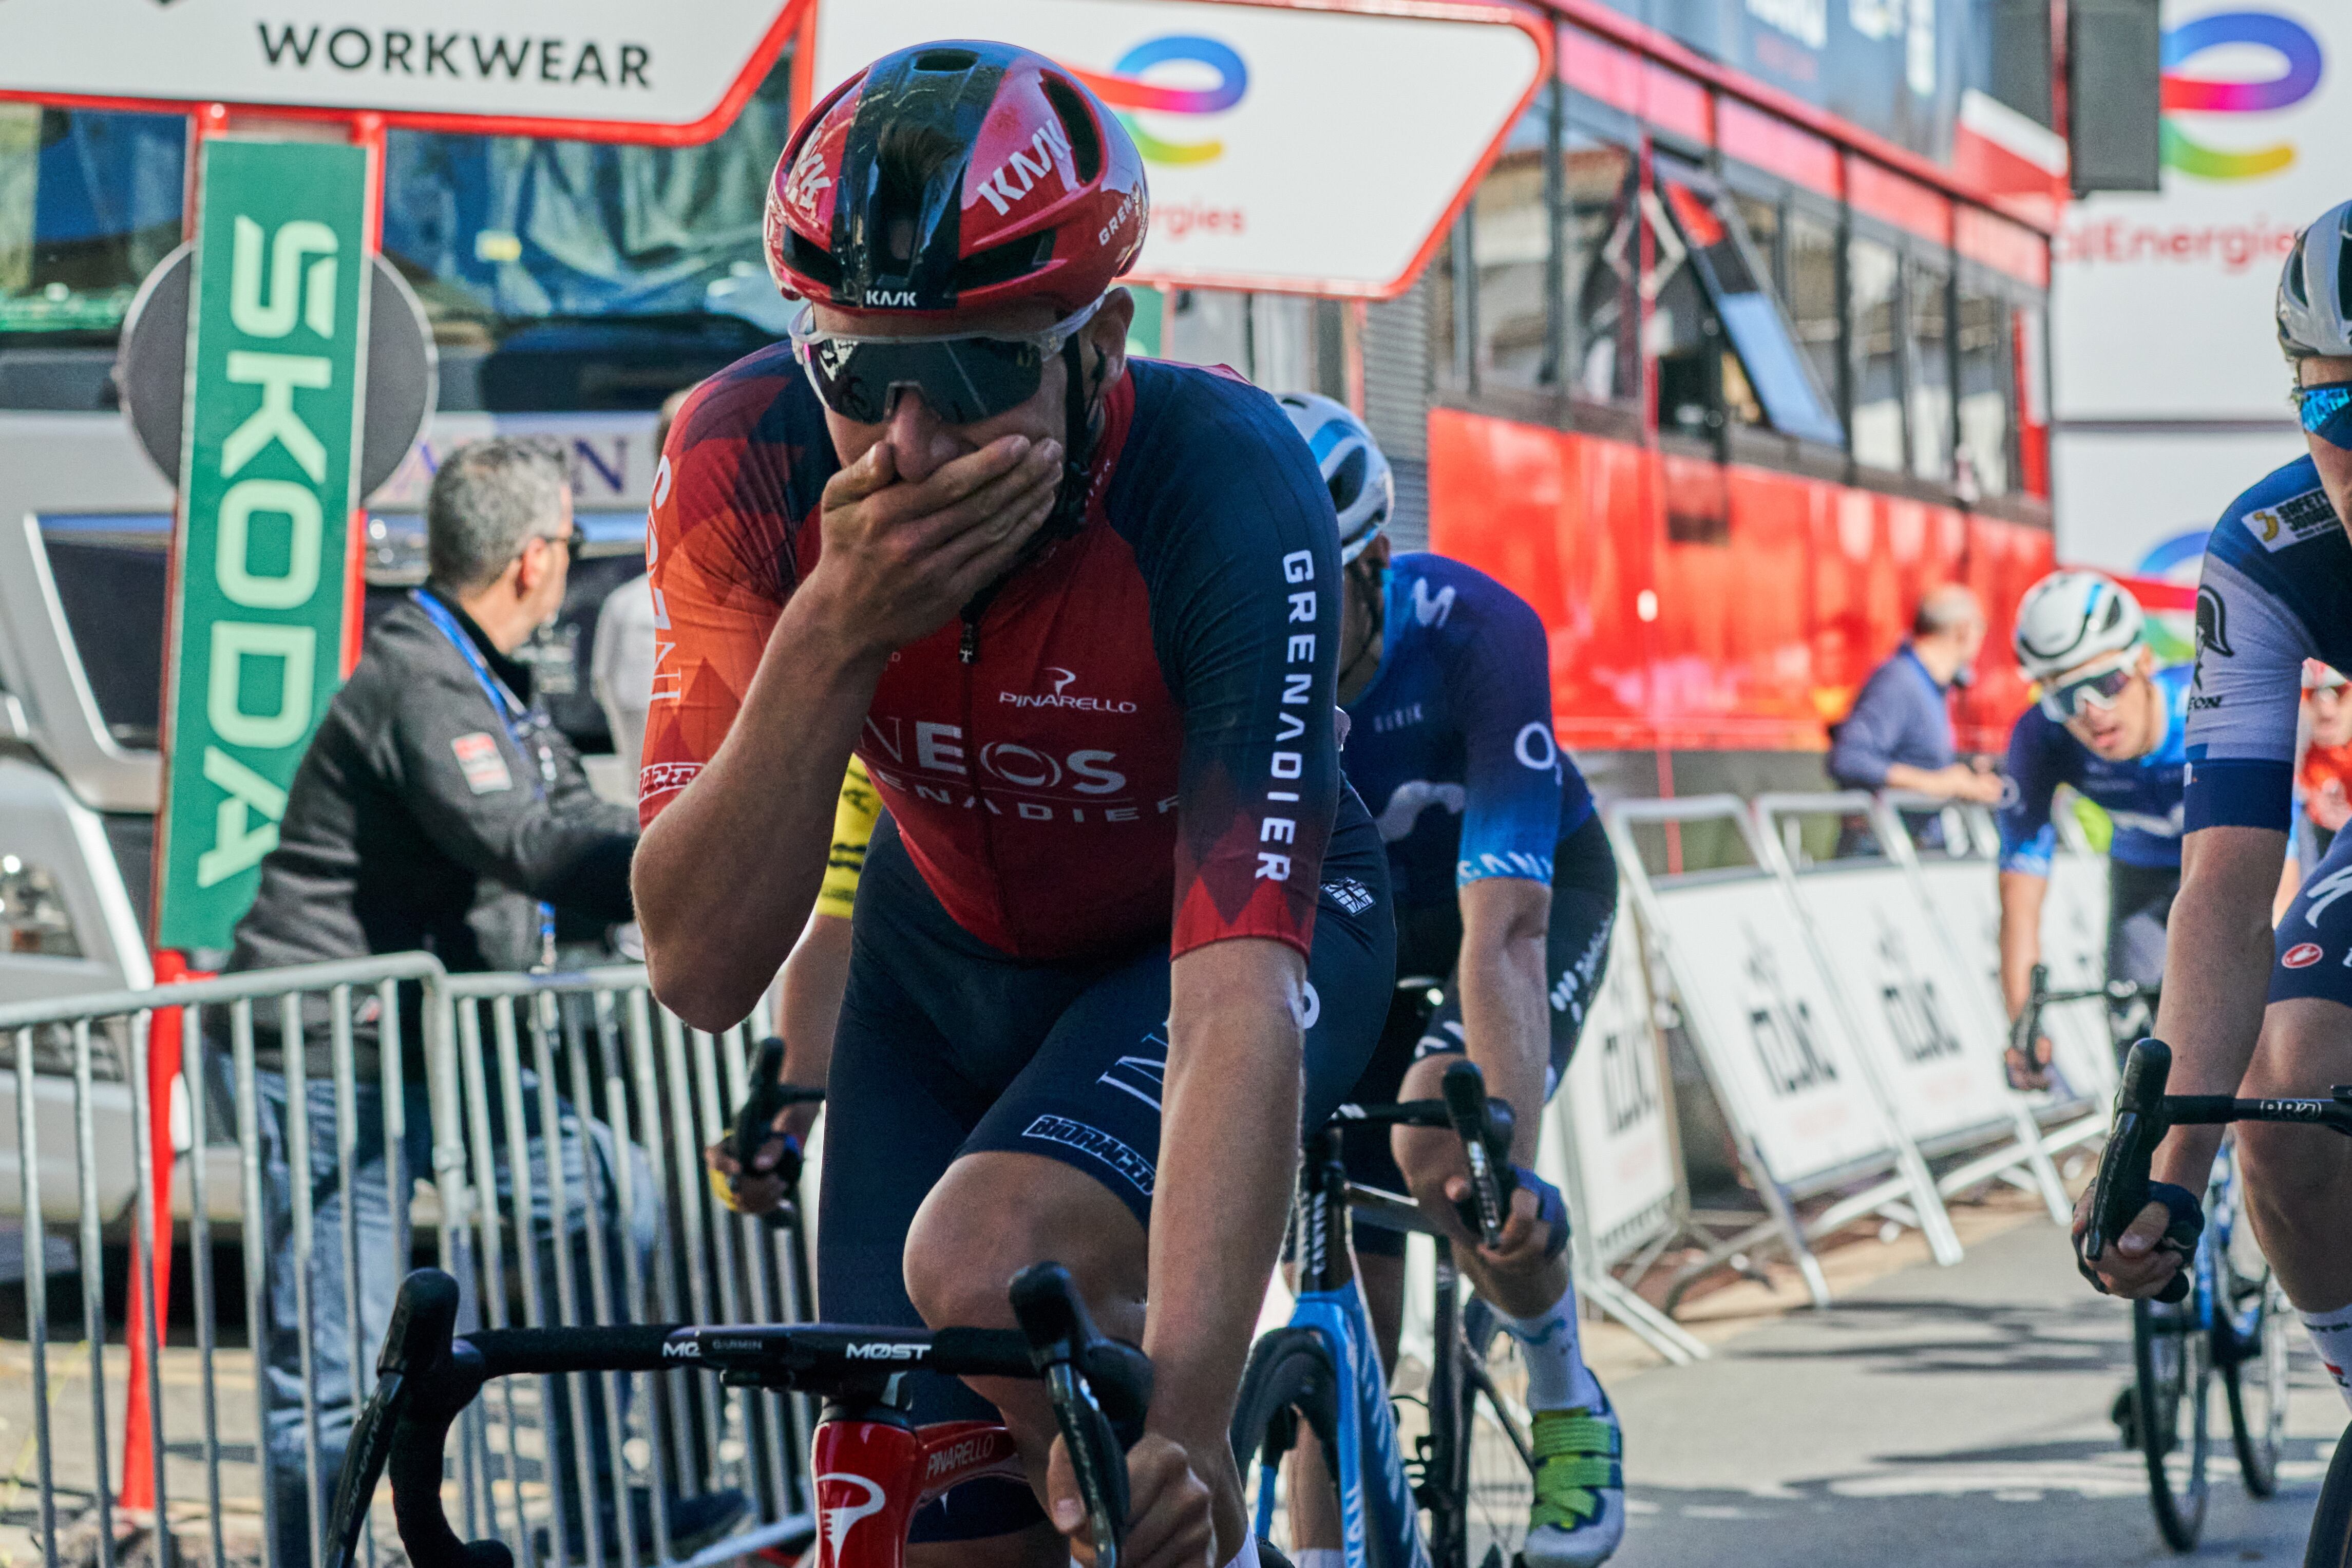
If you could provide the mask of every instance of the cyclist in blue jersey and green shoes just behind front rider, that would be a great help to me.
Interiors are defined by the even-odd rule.
[[[1451,1133],[1350,1135],[1350,1173],[1411,1190],[1519,1340],[1538,1458],[1524,1556],[1531,1568],[1588,1568],[1625,1530],[1623,1439],[1578,1354],[1566,1206],[1526,1166],[1609,959],[1616,863],[1583,776],[1552,738],[1543,621],[1461,562],[1390,559],[1381,529],[1392,480],[1371,433],[1329,397],[1282,404],[1338,510],[1338,696],[1350,719],[1341,762],[1388,844],[1397,976],[1442,978],[1425,1020],[1414,997],[1397,997],[1355,1098],[1432,1098],[1446,1063],[1468,1053],[1517,1112],[1519,1192],[1498,1248],[1482,1248],[1449,1201],[1468,1194]],[[1367,1227],[1355,1246],[1392,1359],[1402,1237]]]

